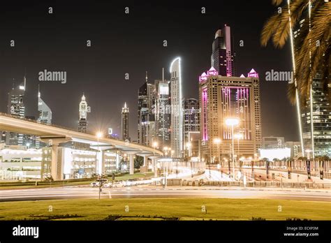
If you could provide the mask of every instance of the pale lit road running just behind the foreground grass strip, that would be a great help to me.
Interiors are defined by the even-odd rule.
[[[0,202],[20,200],[54,200],[98,198],[98,188],[57,187],[45,189],[15,189],[0,191]],[[331,202],[330,190],[304,191],[297,189],[244,189],[227,187],[134,186],[103,189],[101,198],[265,198]]]

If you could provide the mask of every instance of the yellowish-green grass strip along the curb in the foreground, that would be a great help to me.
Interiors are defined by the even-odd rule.
[[[53,211],[48,212],[52,206]],[[129,212],[125,212],[128,205]],[[205,205],[207,214],[201,211]],[[278,212],[279,206],[282,211]],[[121,215],[119,220],[151,220],[143,216],[176,217],[180,220],[267,220],[287,218],[331,220],[330,202],[269,199],[226,198],[112,198],[79,200],[44,200],[0,202],[0,220],[30,220],[33,216],[77,214],[80,217],[56,220],[103,220],[110,215]],[[152,219],[153,220],[153,219]]]

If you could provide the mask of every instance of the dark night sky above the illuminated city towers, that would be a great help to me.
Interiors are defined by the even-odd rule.
[[[196,1],[194,1],[196,2]],[[48,13],[48,7],[53,13]],[[129,7],[129,14],[124,8]],[[201,7],[206,13],[201,13]],[[37,92],[53,112],[53,124],[78,128],[84,92],[91,106],[88,130],[108,126],[120,133],[124,102],[131,140],[137,139],[138,88],[169,79],[170,61],[182,57],[183,95],[198,98],[198,75],[210,68],[212,41],[227,24],[234,36],[237,75],[260,75],[263,136],[299,140],[295,108],[286,82],[267,82],[265,72],[290,71],[290,49],[260,46],[264,22],[276,10],[270,1],[17,1],[0,8],[0,111],[7,93],[27,76],[26,115],[37,117]],[[15,47],[10,47],[15,40]],[[87,47],[91,40],[91,47]],[[163,47],[163,40],[168,47]],[[244,40],[244,47],[240,47]],[[67,82],[40,82],[38,72],[66,71]],[[124,79],[125,73],[129,80]]]

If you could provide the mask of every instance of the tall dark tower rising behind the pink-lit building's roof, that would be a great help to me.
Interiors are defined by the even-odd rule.
[[[224,26],[215,33],[212,43],[211,66],[219,75],[235,76],[235,52],[231,48],[232,38],[230,27]]]

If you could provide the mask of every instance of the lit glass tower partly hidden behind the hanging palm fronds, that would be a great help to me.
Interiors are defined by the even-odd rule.
[[[314,6],[312,6],[314,7]],[[309,22],[308,10],[302,14],[302,20],[293,31],[294,47],[300,47],[301,36],[306,36],[309,29],[303,28]],[[325,63],[325,66],[330,64]],[[321,70],[321,67],[317,68]],[[310,96],[307,101],[300,101],[300,115],[302,123],[302,145],[304,156],[330,156],[331,157],[331,84],[328,85],[329,93],[323,91],[321,72],[312,78]],[[303,104],[303,105],[302,105]]]

